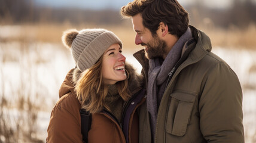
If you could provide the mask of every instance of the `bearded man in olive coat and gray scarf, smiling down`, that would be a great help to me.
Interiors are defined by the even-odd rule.
[[[239,79],[178,1],[135,0],[121,14],[144,46],[134,54],[147,86],[139,142],[244,142]]]

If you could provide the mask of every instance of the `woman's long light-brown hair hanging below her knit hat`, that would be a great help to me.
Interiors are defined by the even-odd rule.
[[[105,102],[106,95],[108,95],[108,85],[103,84],[102,61],[103,55],[90,69],[83,71],[75,86],[77,98],[82,101],[82,108],[90,113],[98,113],[103,108],[110,110]],[[126,75],[127,78],[125,80],[115,83],[118,94],[124,101],[127,101],[130,97],[128,88],[129,73],[126,72]]]

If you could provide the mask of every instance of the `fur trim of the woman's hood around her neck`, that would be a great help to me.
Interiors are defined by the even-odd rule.
[[[143,77],[141,76],[141,74],[136,73],[136,70],[133,68],[131,64],[126,63],[125,68],[129,73],[129,77],[128,77],[129,91],[132,94],[134,94],[133,93],[134,91],[138,91],[137,89],[141,89],[143,84]],[[64,82],[60,86],[59,98],[65,94],[68,94],[69,92],[72,92],[72,94],[76,95],[76,92],[74,89],[78,79],[81,76],[81,73],[82,72],[78,70],[77,67],[69,71],[69,73],[66,75]],[[116,92],[115,86],[109,86],[109,94],[115,94],[115,92]]]

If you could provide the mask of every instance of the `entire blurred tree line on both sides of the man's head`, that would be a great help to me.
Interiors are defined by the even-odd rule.
[[[254,0],[233,0],[229,8],[209,8],[202,0],[194,0],[185,9],[190,13],[190,23],[214,24],[214,26],[246,27],[256,23],[256,2]],[[122,20],[117,10],[81,10],[66,8],[39,7],[33,0],[1,0],[0,23],[39,23],[53,22],[71,24],[96,23],[120,24]]]

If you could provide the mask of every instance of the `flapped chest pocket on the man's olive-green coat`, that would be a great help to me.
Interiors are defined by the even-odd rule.
[[[183,136],[187,130],[196,94],[174,92],[170,98],[166,132],[175,136]]]

